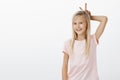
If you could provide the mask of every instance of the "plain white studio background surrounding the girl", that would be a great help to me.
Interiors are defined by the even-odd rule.
[[[119,0],[0,0],[0,80],[61,80],[63,43],[85,2],[108,16],[97,47],[100,80],[120,80]]]

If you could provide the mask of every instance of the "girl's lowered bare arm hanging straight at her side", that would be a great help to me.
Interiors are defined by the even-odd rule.
[[[62,80],[68,80],[68,59],[69,56],[64,52],[63,66],[62,66]]]

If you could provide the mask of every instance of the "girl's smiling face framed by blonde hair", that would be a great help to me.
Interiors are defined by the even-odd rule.
[[[87,23],[83,15],[75,16],[73,18],[73,30],[77,35],[84,35],[86,33]]]

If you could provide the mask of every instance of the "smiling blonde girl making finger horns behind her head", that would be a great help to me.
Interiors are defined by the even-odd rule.
[[[81,8],[82,9],[82,8]],[[90,34],[90,20],[100,24]],[[72,19],[73,37],[64,43],[62,80],[99,80],[96,61],[96,47],[107,22],[106,16],[93,16],[87,10],[78,11]],[[70,62],[68,71],[68,62]]]

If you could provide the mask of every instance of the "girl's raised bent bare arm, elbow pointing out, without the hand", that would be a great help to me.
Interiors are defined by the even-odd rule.
[[[105,29],[108,18],[106,16],[91,16],[91,20],[95,20],[95,21],[100,22],[100,24],[95,32],[95,36],[96,36],[96,39],[98,41],[100,36],[102,35],[104,29]]]

